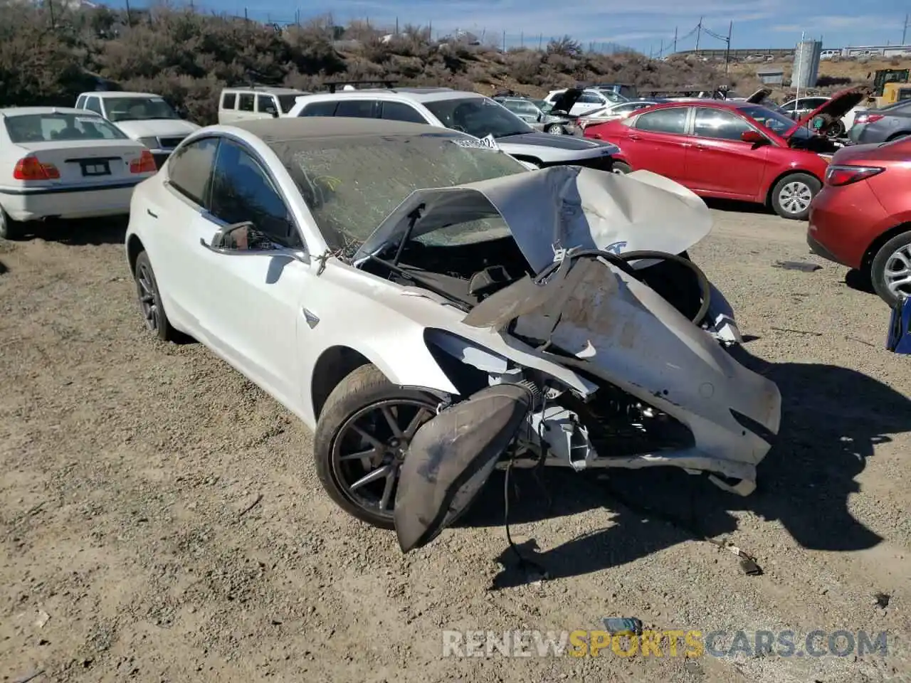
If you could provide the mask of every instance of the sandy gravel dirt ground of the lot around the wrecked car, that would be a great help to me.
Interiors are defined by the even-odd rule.
[[[808,255],[804,223],[737,209],[715,211],[692,255],[783,393],[759,490],[674,470],[545,474],[548,507],[517,473],[511,531],[537,544],[540,583],[507,553],[502,476],[409,556],[343,514],[290,413],[200,345],[148,337],[122,227],[0,242],[3,680],[911,680],[911,359],[883,348],[885,305]],[[814,629],[886,631],[888,654],[442,657],[443,629],[602,617],[790,629],[798,650]]]

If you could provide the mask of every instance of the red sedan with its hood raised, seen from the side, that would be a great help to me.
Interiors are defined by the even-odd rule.
[[[825,128],[864,96],[845,90],[797,122],[751,102],[672,102],[587,127],[585,137],[619,146],[617,172],[646,168],[702,197],[757,202],[785,219],[805,219],[836,149]]]

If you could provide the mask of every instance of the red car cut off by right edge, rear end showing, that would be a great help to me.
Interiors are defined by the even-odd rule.
[[[806,240],[860,270],[883,301],[911,296],[911,138],[835,154],[810,207]]]

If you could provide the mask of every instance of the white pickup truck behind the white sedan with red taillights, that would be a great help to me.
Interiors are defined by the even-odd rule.
[[[178,116],[164,97],[152,93],[116,90],[82,93],[77,109],[88,109],[107,118],[124,133],[151,150],[158,168],[180,141],[199,129]]]

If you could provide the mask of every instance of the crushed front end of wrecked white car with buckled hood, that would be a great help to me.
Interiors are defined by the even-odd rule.
[[[675,465],[752,493],[781,396],[723,350],[740,341],[732,311],[687,256],[711,229],[701,199],[647,171],[517,176],[415,192],[355,255],[363,270],[464,313],[460,326],[425,329],[458,394],[404,460],[394,509],[403,550],[432,540],[497,463]],[[650,203],[631,201],[638,191]],[[536,362],[473,341],[483,331]]]

